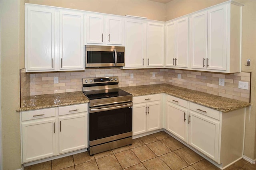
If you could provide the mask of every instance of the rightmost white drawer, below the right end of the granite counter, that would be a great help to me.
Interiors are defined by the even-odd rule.
[[[202,113],[214,119],[220,120],[220,111],[190,102],[190,110]]]

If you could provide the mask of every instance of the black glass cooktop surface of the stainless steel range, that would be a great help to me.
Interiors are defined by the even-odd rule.
[[[119,88],[108,89],[108,90],[92,90],[92,91],[84,92],[84,94],[87,96],[89,100],[132,95]]]

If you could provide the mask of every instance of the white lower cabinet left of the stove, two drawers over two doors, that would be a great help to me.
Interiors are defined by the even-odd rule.
[[[79,104],[22,111],[22,163],[87,148],[87,109]]]

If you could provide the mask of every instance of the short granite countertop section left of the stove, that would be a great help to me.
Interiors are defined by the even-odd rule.
[[[58,94],[44,94],[38,96],[27,96],[17,111],[44,109],[49,107],[67,106],[72,104],[88,103],[89,99],[83,92],[67,92]]]

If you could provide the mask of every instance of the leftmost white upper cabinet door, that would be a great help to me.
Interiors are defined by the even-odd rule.
[[[25,67],[33,70],[54,70],[54,9],[26,7]]]

